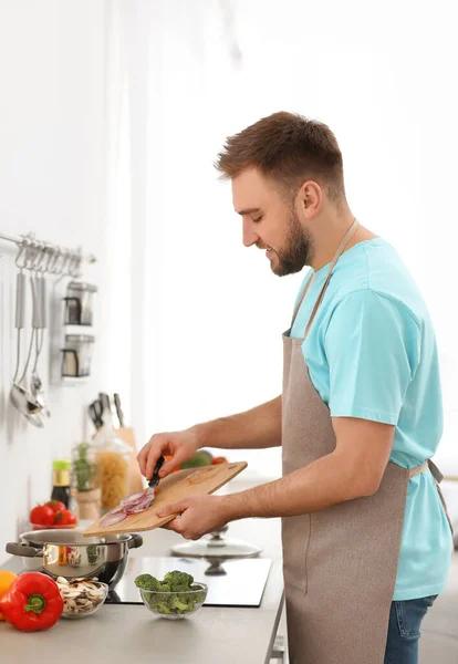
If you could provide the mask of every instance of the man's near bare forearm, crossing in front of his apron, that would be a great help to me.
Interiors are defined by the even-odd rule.
[[[369,495],[364,476],[339,453],[321,457],[281,479],[222,496],[227,521],[248,517],[292,517]]]

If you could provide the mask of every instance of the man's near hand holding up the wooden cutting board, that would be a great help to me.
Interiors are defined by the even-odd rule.
[[[207,494],[189,496],[179,502],[166,505],[156,513],[159,518],[179,515],[163,528],[175,530],[185,539],[192,540],[200,539],[204,535],[226,526],[229,520],[225,498]]]

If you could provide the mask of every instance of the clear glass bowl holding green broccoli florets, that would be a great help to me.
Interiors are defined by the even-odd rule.
[[[192,583],[191,590],[159,592],[139,588],[143,603],[157,618],[179,620],[195,615],[201,609],[208,592],[205,583]]]

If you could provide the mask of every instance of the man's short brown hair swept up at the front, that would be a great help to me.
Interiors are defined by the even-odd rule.
[[[223,179],[257,168],[295,194],[305,179],[327,187],[334,200],[345,197],[337,141],[323,123],[294,113],[273,113],[226,139],[215,163]]]

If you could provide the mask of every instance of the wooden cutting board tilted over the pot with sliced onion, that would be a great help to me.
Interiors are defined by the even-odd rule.
[[[201,468],[189,468],[178,470],[159,481],[159,491],[149,509],[138,515],[131,515],[124,521],[103,528],[100,522],[103,517],[94,521],[83,531],[85,537],[117,535],[123,532],[143,532],[159,528],[167,521],[171,521],[175,515],[159,519],[156,511],[159,507],[183,500],[195,494],[214,494],[247,467],[246,461],[233,464],[216,464]]]

